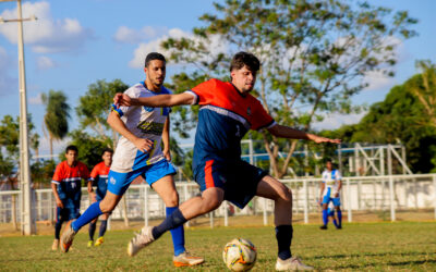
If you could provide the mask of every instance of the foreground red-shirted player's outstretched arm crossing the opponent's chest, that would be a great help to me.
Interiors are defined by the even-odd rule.
[[[196,97],[190,92],[178,95],[160,95],[153,97],[132,98],[125,94],[117,94],[113,103],[118,106],[146,106],[154,108],[173,107],[179,104],[194,104]]]

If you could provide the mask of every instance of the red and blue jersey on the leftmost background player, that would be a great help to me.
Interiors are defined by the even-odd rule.
[[[59,198],[76,198],[81,195],[81,180],[87,181],[89,171],[80,161],[74,166],[70,166],[66,161],[58,164],[51,183],[58,185]]]

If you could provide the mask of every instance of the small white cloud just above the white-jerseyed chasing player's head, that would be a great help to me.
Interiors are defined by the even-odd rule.
[[[168,33],[167,27],[144,26],[137,30],[126,26],[120,26],[118,27],[113,39],[120,44],[138,44],[144,40],[156,38],[160,34],[165,33]]]

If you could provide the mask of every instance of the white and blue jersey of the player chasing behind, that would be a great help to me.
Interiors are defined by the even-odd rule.
[[[138,83],[124,91],[132,98],[153,97],[171,94],[161,87],[160,92],[148,90],[144,82]],[[161,138],[165,122],[170,108],[150,108],[144,106],[120,107],[116,109],[128,129],[138,138],[147,138],[154,141],[153,149],[148,153],[140,151],[136,146],[125,137],[118,141],[110,170],[119,173],[128,173],[138,168],[154,164],[164,159]]]

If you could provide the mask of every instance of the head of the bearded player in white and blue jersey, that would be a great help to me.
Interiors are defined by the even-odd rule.
[[[164,85],[167,60],[161,53],[152,52],[145,58],[144,72],[147,84],[160,88]]]

